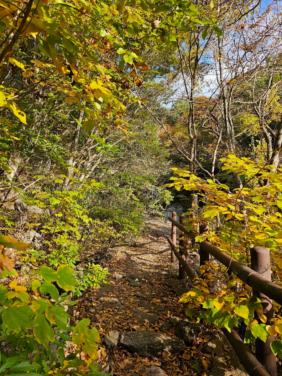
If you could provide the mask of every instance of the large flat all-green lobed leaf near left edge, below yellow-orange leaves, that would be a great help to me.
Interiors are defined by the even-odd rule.
[[[2,313],[3,324],[12,332],[20,332],[21,328],[31,328],[35,326],[33,320],[34,313],[30,306],[8,307]]]

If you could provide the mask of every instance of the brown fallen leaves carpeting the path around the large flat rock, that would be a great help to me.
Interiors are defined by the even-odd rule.
[[[186,318],[185,307],[178,303],[185,291],[171,288],[166,282],[174,278],[177,283],[178,273],[177,267],[170,264],[167,237],[171,226],[158,220],[150,220],[149,226],[153,231],[158,229],[156,234],[141,239],[136,247],[119,247],[115,259],[106,265],[111,273],[109,285],[88,289],[75,306],[74,319],[89,318],[91,326],[99,329],[102,342],[98,362],[102,371],[110,370],[114,375],[146,375],[144,366],[155,366],[164,375],[208,375],[212,355],[202,352],[202,346],[215,331],[211,324],[197,324],[199,334],[191,347],[185,347],[183,355],[163,352],[158,358],[150,355],[142,358],[120,347],[109,351],[103,343],[104,336],[111,335],[112,331],[118,331],[121,336],[124,332],[146,330],[174,337],[176,325]],[[139,276],[141,273],[143,279]],[[137,278],[130,279],[133,274],[133,278],[138,274],[140,282]],[[141,322],[136,311],[155,314],[155,322]],[[232,374],[228,360],[226,365]]]

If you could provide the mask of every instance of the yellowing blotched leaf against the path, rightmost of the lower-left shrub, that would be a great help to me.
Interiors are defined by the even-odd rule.
[[[83,352],[89,356],[97,355],[96,342],[100,342],[99,332],[96,328],[87,329],[90,324],[88,318],[83,318],[74,327],[71,338],[77,347],[82,346]]]

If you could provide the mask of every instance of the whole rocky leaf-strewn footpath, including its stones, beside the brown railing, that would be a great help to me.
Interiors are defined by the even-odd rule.
[[[128,376],[247,376],[220,331],[185,316],[179,296],[188,291],[170,264],[171,226],[150,219],[151,235],[117,247],[110,284],[90,290],[74,311],[100,331],[102,372]],[[197,255],[189,263],[199,265]]]

